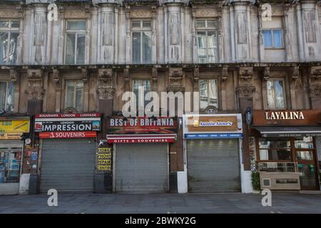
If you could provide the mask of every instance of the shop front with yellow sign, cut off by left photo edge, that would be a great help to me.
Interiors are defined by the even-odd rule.
[[[29,117],[0,118],[0,195],[18,194],[24,154],[22,135],[29,133]]]

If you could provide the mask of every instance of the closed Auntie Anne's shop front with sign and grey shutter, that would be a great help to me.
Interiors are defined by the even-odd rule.
[[[183,115],[188,192],[241,192],[241,114]]]

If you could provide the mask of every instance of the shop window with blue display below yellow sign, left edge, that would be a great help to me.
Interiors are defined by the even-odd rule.
[[[0,147],[0,183],[19,182],[22,147]]]

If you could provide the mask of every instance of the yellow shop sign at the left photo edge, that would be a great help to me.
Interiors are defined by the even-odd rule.
[[[0,133],[29,133],[30,120],[0,120]]]

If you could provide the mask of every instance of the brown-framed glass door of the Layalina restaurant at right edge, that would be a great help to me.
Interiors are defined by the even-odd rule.
[[[316,150],[313,147],[312,137],[296,138],[295,153],[300,172],[301,190],[319,190]]]

